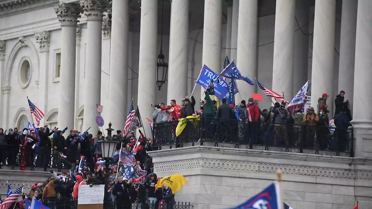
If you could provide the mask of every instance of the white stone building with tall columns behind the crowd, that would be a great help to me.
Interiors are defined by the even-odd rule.
[[[310,81],[311,106],[317,107],[317,98],[327,93],[330,115],[336,95],[346,92],[353,114],[355,158],[327,156],[320,162],[310,157],[308,163],[298,153],[282,153],[248,166],[263,167],[266,180],[275,179],[269,175],[277,165],[304,169],[297,179],[284,177],[300,182],[287,191],[287,196],[294,196],[289,200],[292,208],[351,209],[356,200],[365,205],[362,208],[372,208],[372,111],[368,108],[372,92],[367,85],[372,78],[371,0],[0,0],[0,127],[27,127],[33,117],[28,97],[45,114],[40,126],[79,131],[90,127],[95,134],[97,105],[103,105],[103,128],[111,122],[114,130],[123,130],[132,99],[142,120],[151,118],[151,104],[169,104],[171,99],[181,104],[193,91],[202,65],[220,73],[226,56],[235,59],[242,75],[283,92],[287,101]],[[237,85],[237,103],[252,93],[262,94],[257,85],[242,81]],[[197,85],[193,92],[197,103],[204,97],[202,90]],[[259,105],[268,109],[272,103],[266,97]],[[144,126],[151,133],[147,122]],[[222,181],[217,176],[246,174],[216,167],[232,159],[211,160],[218,152],[213,148],[180,149],[188,155],[176,149],[169,152],[176,161],[186,162],[185,173],[199,181],[182,195],[199,204],[195,209],[216,208],[206,206],[214,201],[231,205],[224,196],[228,194],[213,194],[214,185],[228,193],[228,187],[240,183],[229,179],[230,185],[228,181],[215,184]],[[173,174],[174,169],[167,168],[174,162],[157,161],[156,155],[164,158],[161,150],[155,152],[159,152],[153,154],[155,170]],[[244,155],[247,162],[263,156],[258,151],[231,152],[231,156]],[[184,160],[195,153],[202,156],[200,161]],[[353,168],[348,166],[352,164]],[[196,172],[192,165],[201,169]],[[208,169],[221,171],[206,178]],[[336,173],[354,169],[365,176],[314,177],[311,172],[319,169]],[[257,180],[262,178],[256,172],[251,183],[266,186],[264,180]],[[207,183],[200,183],[203,180]],[[256,189],[250,195],[260,186],[252,188]],[[198,196],[192,196],[195,190]],[[230,201],[243,199],[244,195]]]

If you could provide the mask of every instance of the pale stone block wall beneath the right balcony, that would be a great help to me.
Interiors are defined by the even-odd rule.
[[[283,171],[283,200],[294,209],[372,208],[372,160],[339,156],[195,146],[152,151],[159,177],[181,174],[188,183],[176,201],[194,209],[236,206]]]

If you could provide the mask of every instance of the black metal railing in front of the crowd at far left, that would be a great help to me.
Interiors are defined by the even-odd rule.
[[[70,169],[75,166],[76,160],[80,159],[80,156],[85,156],[85,159],[93,160],[93,150],[83,149],[68,149],[68,150],[57,150],[50,147],[20,147],[13,145],[3,145],[0,147],[0,162],[2,166],[9,166],[12,170],[15,167],[28,168],[28,170],[34,170],[33,168],[39,167],[46,169]],[[93,162],[94,164],[94,162]]]

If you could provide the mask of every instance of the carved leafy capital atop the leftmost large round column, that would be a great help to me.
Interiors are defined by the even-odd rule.
[[[77,19],[83,12],[78,4],[59,3],[54,7],[61,26],[76,26],[79,22]]]

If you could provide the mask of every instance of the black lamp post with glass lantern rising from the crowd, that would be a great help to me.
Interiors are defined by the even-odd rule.
[[[105,140],[98,141],[97,143],[100,144],[101,152],[102,152],[102,158],[105,159],[105,170],[103,173],[103,177],[105,180],[105,197],[104,200],[108,200],[108,180],[109,180],[109,162],[113,159],[114,152],[116,149],[116,144],[118,144],[116,141],[113,141],[111,132],[113,129],[111,128],[111,123],[109,123],[109,128],[106,128],[107,131],[107,137]]]

